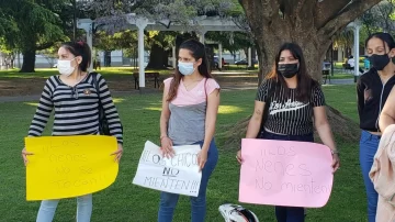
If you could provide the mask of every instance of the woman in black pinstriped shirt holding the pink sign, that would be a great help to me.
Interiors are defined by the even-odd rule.
[[[275,57],[273,71],[259,87],[246,137],[313,142],[313,118],[321,141],[332,151],[336,171],[340,160],[327,121],[324,93],[307,74],[302,48],[286,43]],[[237,159],[242,164],[240,151]],[[303,222],[304,208],[275,207],[275,215],[278,222]]]

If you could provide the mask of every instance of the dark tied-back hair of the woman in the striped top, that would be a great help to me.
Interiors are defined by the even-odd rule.
[[[79,64],[78,68],[81,71],[87,71],[90,66],[92,54],[89,45],[82,41],[80,42],[66,42],[63,43],[60,47],[69,51],[74,56],[81,56],[82,62]]]

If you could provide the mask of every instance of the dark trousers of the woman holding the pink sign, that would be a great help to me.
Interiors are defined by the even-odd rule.
[[[306,135],[279,135],[274,133],[263,132],[262,138],[274,141],[314,142],[313,133]],[[305,209],[298,207],[275,206],[275,218],[278,222],[304,222]]]

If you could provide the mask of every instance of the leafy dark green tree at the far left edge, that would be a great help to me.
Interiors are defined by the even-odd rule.
[[[37,51],[47,49],[57,42],[68,40],[64,31],[70,30],[70,25],[63,22],[63,19],[67,20],[66,18],[72,14],[60,12],[69,7],[69,0],[0,1],[0,24],[12,27],[5,32],[0,29],[0,37],[7,48],[23,54],[21,73],[34,71]],[[65,15],[67,16],[64,18]]]

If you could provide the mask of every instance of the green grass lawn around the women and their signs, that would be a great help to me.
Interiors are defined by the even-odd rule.
[[[324,87],[327,103],[357,121],[353,86]],[[252,112],[255,90],[223,91],[217,127],[225,129]],[[23,137],[27,133],[35,107],[33,103],[0,103],[1,134],[1,186],[0,221],[34,221],[40,202],[25,201],[25,169],[21,158]],[[125,154],[116,181],[93,196],[92,221],[98,222],[154,222],[156,221],[159,192],[132,185],[144,143],[158,143],[160,95],[143,95],[117,98],[125,129]],[[336,132],[336,129],[335,129]],[[45,134],[48,134],[48,129]],[[341,169],[336,174],[335,186],[328,204],[308,210],[311,222],[361,222],[366,221],[365,195],[358,162],[358,144],[345,143],[337,135],[341,153]],[[224,133],[217,133],[219,162],[207,190],[207,222],[224,221],[217,211],[224,202],[237,203],[239,165],[235,159],[235,147],[224,147]],[[274,221],[272,207],[244,204],[256,212],[260,221]],[[76,200],[60,201],[55,221],[71,222],[76,213]],[[174,222],[190,219],[188,198],[180,198]]]

